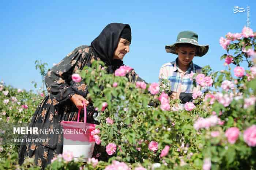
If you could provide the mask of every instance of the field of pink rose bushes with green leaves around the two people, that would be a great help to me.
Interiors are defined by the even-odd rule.
[[[106,74],[101,61],[91,61],[72,75],[89,86],[86,99],[100,114],[91,132],[105,147],[108,161],[97,156],[83,162],[72,151],[56,155],[48,170],[256,170],[256,32],[244,27],[219,40],[224,70],[203,68],[189,74],[200,91],[182,107],[171,100],[167,81],[129,82],[129,66]],[[222,49],[222,48],[223,49]],[[44,77],[45,63],[36,62]],[[241,66],[243,65],[243,66]],[[245,67],[246,66],[246,67]],[[44,80],[44,79],[43,79]],[[35,84],[35,87],[36,84]],[[0,84],[0,122],[28,123],[47,94]],[[18,144],[4,142],[0,129],[0,170],[36,170],[33,158],[18,164]]]

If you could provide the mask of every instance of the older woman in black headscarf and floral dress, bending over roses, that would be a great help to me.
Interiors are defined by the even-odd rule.
[[[131,28],[128,24],[111,23],[106,26],[101,34],[91,42],[91,46],[80,46],[69,53],[60,63],[52,67],[45,76],[48,96],[36,109],[31,126],[57,129],[61,121],[76,121],[78,108],[83,108],[83,101],[87,105],[87,123],[99,124],[94,120],[97,112],[93,104],[86,100],[87,85],[83,82],[72,81],[71,75],[84,66],[91,65],[91,59],[101,60],[108,67],[108,73],[113,73],[124,65],[122,59],[129,53],[131,44]],[[143,81],[132,70],[128,73],[130,81]],[[83,121],[83,115],[80,121]],[[50,161],[62,153],[63,136],[61,134],[28,135],[26,139],[46,139],[43,142],[24,142],[19,150],[19,163],[22,164],[26,157],[35,159],[35,163],[44,169]],[[96,145],[95,145],[96,146]],[[94,149],[97,154],[98,146]],[[101,159],[101,158],[99,158]],[[103,159],[103,156],[102,156]]]

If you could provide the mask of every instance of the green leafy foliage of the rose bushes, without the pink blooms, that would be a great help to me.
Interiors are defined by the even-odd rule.
[[[254,40],[254,38],[243,38],[231,43],[227,47],[227,54],[222,55],[221,59],[225,59],[233,52],[233,64],[240,65],[245,59],[251,67],[253,62],[246,53],[242,52],[242,47],[246,44],[246,49],[255,48]],[[45,63],[36,61],[36,64],[41,75],[45,75]],[[204,97],[208,94],[204,94],[193,100],[196,107],[192,111],[183,109],[162,111],[158,100],[159,94],[150,94],[149,85],[146,89],[136,88],[134,83],[128,81],[131,72],[122,77],[106,74],[105,69],[103,62],[93,61],[92,67],[84,67],[78,73],[89,86],[89,94],[86,98],[92,101],[94,107],[100,111],[97,119],[101,123],[97,128],[100,130],[101,145],[115,143],[116,153],[112,155],[109,162],[99,161],[95,167],[91,163],[75,160],[67,162],[62,158],[57,158],[47,169],[103,170],[113,160],[117,160],[126,162],[132,169],[143,166],[146,169],[156,170],[199,170],[202,169],[204,160],[210,158],[212,170],[255,170],[256,147],[248,146],[243,138],[244,131],[256,124],[255,102],[246,105],[246,99],[255,97],[255,78],[248,81],[248,76],[233,77],[230,66],[227,66],[227,70],[218,72],[206,66],[203,68],[203,73],[214,80],[213,86],[216,91],[210,92],[215,97],[214,102],[211,103],[211,98],[205,100]],[[251,71],[247,70],[247,73],[253,76]],[[194,80],[195,76],[193,76]],[[236,82],[234,88],[223,90],[221,85],[224,80]],[[116,87],[112,86],[114,82],[118,84]],[[196,85],[195,81],[194,84]],[[29,117],[42,97],[26,91],[18,93],[17,89],[3,85],[3,91],[5,90],[9,91],[7,96],[0,92],[0,113],[6,113],[0,115],[1,121],[7,122],[7,117],[10,117],[8,121],[11,122],[29,121]],[[167,92],[169,87],[161,86],[161,90]],[[232,100],[225,106],[216,99],[217,95],[231,96]],[[3,104],[5,99],[11,100],[12,96],[17,98],[20,105],[28,105],[28,109],[19,112],[20,105],[16,102]],[[101,111],[103,102],[107,102],[108,107]],[[171,100],[171,107],[176,106],[177,102]],[[149,106],[149,103],[154,103],[157,107]],[[223,125],[218,122],[217,125],[196,130],[195,121],[200,117],[211,116],[213,111],[219,117],[219,121],[224,122]],[[108,117],[114,121],[113,124],[106,122]],[[237,127],[240,130],[239,138],[234,144],[230,143],[225,135],[230,127]],[[218,132],[219,135],[212,136],[213,131]],[[148,144],[151,141],[158,142],[157,151],[149,149]],[[170,146],[170,150],[166,156],[160,157],[165,146]],[[3,158],[0,162],[0,170],[1,167],[3,169],[30,168],[31,170],[38,168],[30,159],[27,159],[24,165],[18,166],[16,150],[17,146],[4,146],[4,150],[0,152]]]

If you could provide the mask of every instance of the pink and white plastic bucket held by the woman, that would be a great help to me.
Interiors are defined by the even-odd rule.
[[[91,131],[96,124],[86,123],[86,105],[84,105],[84,122],[79,122],[80,111],[77,121],[61,121],[63,126],[63,152],[73,152],[75,158],[83,157],[85,161],[93,155],[95,140]]]

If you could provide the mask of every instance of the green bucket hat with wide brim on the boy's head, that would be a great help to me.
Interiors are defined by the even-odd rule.
[[[176,53],[176,44],[179,43],[189,43],[198,47],[195,56],[202,57],[204,54],[207,53],[209,49],[209,45],[199,45],[198,44],[198,35],[192,31],[182,31],[178,34],[177,40],[173,45],[165,46],[165,50],[167,53]]]

